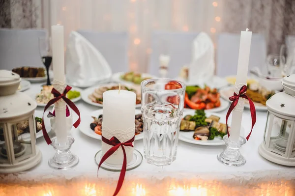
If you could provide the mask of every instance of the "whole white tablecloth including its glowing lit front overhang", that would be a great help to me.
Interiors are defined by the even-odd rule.
[[[25,93],[29,94],[30,96],[34,96],[37,92],[39,92],[40,88],[41,84],[31,84],[30,89],[25,91]],[[88,116],[90,112],[100,109],[83,102],[83,100],[76,102],[76,105],[81,112],[82,121],[84,120],[83,117]],[[43,111],[44,108],[37,107],[36,110]],[[226,112],[227,111],[223,111],[219,114],[225,115]],[[179,140],[177,147],[177,159],[172,163],[172,165],[164,166],[162,169],[161,167],[149,165],[144,159],[143,163],[138,168],[126,172],[124,186],[128,185],[128,181],[130,179],[134,180],[135,178],[138,178],[139,181],[140,179],[150,179],[149,181],[142,181],[146,184],[146,187],[154,187],[159,182],[168,183],[170,186],[172,183],[172,179],[180,180],[182,184],[187,184],[186,182],[191,183],[194,179],[198,179],[199,185],[200,179],[203,179],[203,183],[206,183],[206,180],[218,180],[218,182],[225,181],[225,183],[231,182],[230,186],[246,186],[249,183],[251,184],[251,186],[240,187],[241,190],[239,191],[244,191],[244,189],[247,190],[247,188],[253,189],[253,187],[256,186],[256,183],[262,183],[265,181],[267,183],[271,181],[271,186],[273,186],[272,182],[274,181],[278,182],[280,186],[283,186],[281,184],[284,184],[286,180],[290,179],[291,181],[293,180],[292,182],[294,183],[294,168],[284,167],[271,163],[259,155],[258,147],[263,140],[265,125],[266,112],[257,112],[257,122],[254,127],[253,134],[251,135],[250,140],[245,145],[243,145],[241,149],[242,155],[247,160],[246,165],[242,167],[231,168],[224,166],[217,161],[216,155],[222,152],[225,146],[202,146],[186,143]],[[244,111],[242,126],[244,127],[246,132],[250,130],[251,117],[249,110],[245,109]],[[87,179],[105,179],[107,181],[114,180],[112,182],[116,182],[118,180],[119,173],[106,171],[104,169],[99,170],[99,178],[96,178],[97,165],[94,162],[94,155],[98,150],[101,149],[101,141],[89,138],[88,136],[81,133],[79,131],[79,128],[73,128],[72,135],[75,138],[75,142],[72,145],[71,151],[80,159],[79,164],[75,168],[69,170],[55,170],[50,168],[47,162],[54,155],[55,151],[51,145],[47,145],[44,138],[42,137],[36,140],[37,146],[41,150],[43,156],[41,163],[36,167],[31,168],[25,174],[10,174],[7,176],[2,176],[0,177],[0,181],[3,182],[3,180],[7,179],[10,179],[12,181],[21,179],[33,179],[33,181],[36,181],[36,179],[52,177],[54,178],[55,176],[63,176],[62,179],[76,179],[77,177],[82,176]],[[143,154],[143,140],[135,141],[135,149],[139,150]],[[130,181],[130,183],[131,182],[132,181]],[[216,181],[210,182],[213,184],[215,183],[216,185]],[[234,185],[234,182],[236,183],[236,185]],[[61,180],[60,183],[62,184],[63,181]],[[111,191],[108,192],[109,194],[113,193],[116,183],[110,184],[112,184],[112,188],[110,189]],[[211,184],[207,184],[207,186],[208,185],[211,186]],[[269,189],[268,186],[270,185],[267,184],[265,188]],[[280,192],[280,186],[276,186],[275,188],[272,187],[272,189],[277,189],[277,191]],[[295,184],[292,184],[291,186],[295,186]],[[163,188],[163,190],[161,190],[163,193],[162,195],[166,195],[166,192],[170,193],[171,189],[172,191],[178,190],[178,188],[176,188],[175,186],[174,188],[169,188],[169,190]],[[182,189],[183,188],[181,188],[181,190]],[[121,192],[129,193],[130,190],[128,191],[124,189]],[[230,193],[234,192],[230,191]]]

